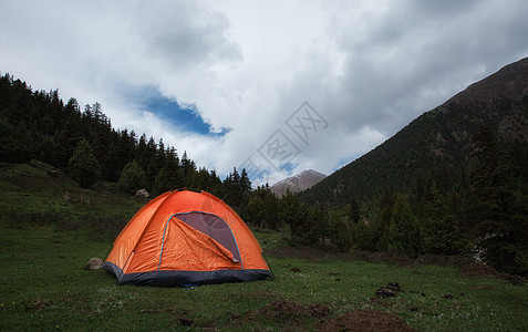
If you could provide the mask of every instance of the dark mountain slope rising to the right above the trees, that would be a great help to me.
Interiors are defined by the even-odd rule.
[[[528,142],[528,58],[506,65],[425,112],[393,137],[301,194],[307,203],[348,203],[408,191],[424,176],[459,176],[468,168],[480,126],[503,145]],[[521,151],[522,151],[521,148]]]

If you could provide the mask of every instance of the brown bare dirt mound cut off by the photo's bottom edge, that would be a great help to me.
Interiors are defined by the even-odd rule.
[[[416,331],[394,314],[375,310],[345,313],[321,326],[319,331]]]

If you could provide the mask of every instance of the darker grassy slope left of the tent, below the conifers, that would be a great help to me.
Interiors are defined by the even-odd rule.
[[[53,225],[58,230],[91,230],[101,240],[114,238],[143,203],[99,184],[87,190],[52,167],[0,164],[0,221],[10,228]],[[68,199],[65,197],[68,196]]]

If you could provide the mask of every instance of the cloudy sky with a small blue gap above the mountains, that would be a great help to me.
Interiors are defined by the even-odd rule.
[[[1,1],[0,72],[270,184],[528,56],[528,2]]]

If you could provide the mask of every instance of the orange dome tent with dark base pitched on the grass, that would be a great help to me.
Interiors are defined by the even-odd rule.
[[[121,284],[175,287],[271,277],[240,217],[206,191],[175,190],[145,205],[115,239],[103,269]]]

